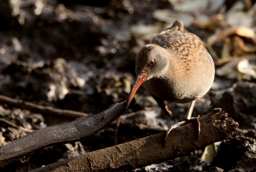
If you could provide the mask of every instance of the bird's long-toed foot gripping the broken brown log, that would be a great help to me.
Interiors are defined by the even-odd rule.
[[[184,121],[180,121],[174,125],[172,125],[168,131],[166,132],[165,134],[165,138],[164,138],[164,144],[166,143],[166,140],[168,138],[168,135],[169,133],[171,133],[175,128],[177,127],[180,127],[180,126],[183,126],[183,125],[186,125],[188,124],[190,121],[194,121],[196,123],[196,126],[197,126],[197,140],[198,140],[198,137],[200,135],[200,122],[198,120],[199,116],[198,117],[191,117],[190,119],[185,119]]]

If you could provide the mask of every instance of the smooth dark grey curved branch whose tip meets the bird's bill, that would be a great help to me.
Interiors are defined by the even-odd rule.
[[[0,167],[39,148],[84,140],[118,118],[125,109],[126,101],[119,101],[96,115],[88,114],[69,123],[33,131],[0,148]]]

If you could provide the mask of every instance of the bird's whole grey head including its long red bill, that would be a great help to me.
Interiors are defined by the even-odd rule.
[[[136,56],[136,79],[127,100],[127,107],[140,85],[151,78],[163,77],[171,62],[171,54],[163,47],[148,44]]]

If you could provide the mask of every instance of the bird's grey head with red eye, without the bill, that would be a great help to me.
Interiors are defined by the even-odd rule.
[[[171,62],[171,54],[158,45],[149,44],[141,48],[136,56],[136,73],[146,73],[146,80],[158,78]]]

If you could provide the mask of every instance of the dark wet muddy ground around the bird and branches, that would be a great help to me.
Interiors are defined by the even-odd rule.
[[[237,2],[245,4],[243,12],[255,8],[254,1],[218,2],[222,2],[226,11]],[[136,54],[170,24],[170,21],[156,17],[156,10],[181,13],[175,7],[167,0],[0,0],[0,94],[58,109],[99,113],[117,100],[128,97],[135,77]],[[205,8],[200,13],[209,17],[220,11]],[[165,13],[160,14],[164,16]],[[255,22],[253,20],[249,27],[253,31]],[[207,42],[217,27],[221,30],[229,25],[216,26],[215,29],[199,27],[196,23],[186,23],[185,26]],[[255,46],[253,39],[242,39]],[[223,40],[212,45],[219,57],[224,45]],[[249,54],[249,64],[255,71],[255,51],[244,54]],[[220,63],[216,58],[214,62],[216,69],[227,63]],[[241,130],[229,140],[216,144],[217,155],[213,161],[201,161],[204,150],[198,150],[185,157],[134,171],[256,171],[256,77],[253,73],[240,75],[234,64],[230,68],[235,77],[230,73],[216,75],[212,89],[197,101],[193,112],[196,117],[213,108],[222,108],[239,123]],[[167,128],[182,120],[188,109],[188,104],[168,104],[173,113],[169,118],[147,91],[140,88],[137,93],[137,103],[124,114],[145,107],[148,109],[121,121],[116,137],[115,123],[90,140],[38,150],[1,171],[29,171],[112,146],[115,142],[119,144],[158,133],[157,127]],[[0,105],[0,117],[33,130],[74,120],[35,114],[8,104]],[[139,130],[136,125],[129,125],[141,123],[156,127],[156,130],[152,127]],[[0,126],[2,145],[26,134],[4,122]]]

